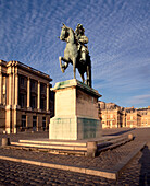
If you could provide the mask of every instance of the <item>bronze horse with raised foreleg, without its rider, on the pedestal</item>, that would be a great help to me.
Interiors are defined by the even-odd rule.
[[[74,79],[76,79],[76,68],[80,74],[83,83],[85,83],[84,73],[86,72],[87,80],[86,84],[91,88],[91,61],[90,56],[87,54],[86,62],[82,62],[80,53],[78,51],[78,42],[74,31],[71,27],[67,27],[65,24],[62,26],[61,35],[59,37],[61,40],[66,42],[66,47],[64,50],[64,57],[60,56],[60,68],[64,73],[65,69],[68,67],[68,63],[73,65]],[[64,63],[62,63],[64,61]]]

